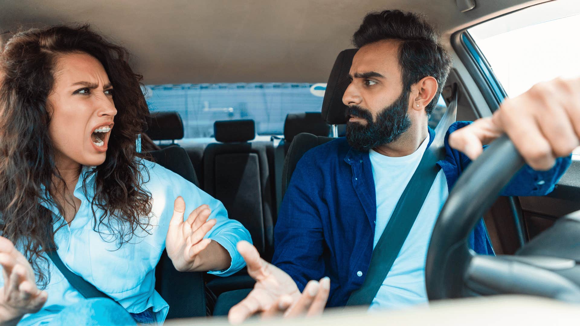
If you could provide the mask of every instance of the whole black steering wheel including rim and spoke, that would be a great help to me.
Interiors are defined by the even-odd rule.
[[[457,181],[435,224],[425,277],[429,300],[527,294],[580,303],[580,211],[557,220],[516,255],[477,255],[467,237],[524,161],[502,136]]]

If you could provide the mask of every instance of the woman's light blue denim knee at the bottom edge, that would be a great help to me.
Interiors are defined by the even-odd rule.
[[[50,325],[136,325],[135,319],[117,302],[105,298],[86,299],[60,311]]]

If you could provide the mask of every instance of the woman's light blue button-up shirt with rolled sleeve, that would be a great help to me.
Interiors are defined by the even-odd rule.
[[[185,219],[193,209],[207,204],[212,211],[209,218],[218,220],[205,238],[215,240],[226,248],[231,256],[231,266],[227,270],[208,273],[229,276],[242,269],[245,262],[235,249],[235,245],[240,240],[249,242],[252,240],[240,222],[227,218],[226,209],[220,201],[161,165],[149,161],[143,163],[148,170],[148,173],[142,171],[144,187],[150,191],[153,205],[150,219],[152,226],[147,229],[151,234],[138,229],[131,241],[118,248],[115,237],[111,236],[107,227],[100,227],[100,234],[93,230],[90,202],[94,195],[95,174],[87,177],[90,167],[84,166],[74,190],[75,197],[81,200],[81,207],[69,226],[56,231],[55,242],[59,248],[59,256],[68,269],[117,300],[129,313],[140,313],[153,307],[155,319],[158,323],[162,323],[169,306],[154,289],[155,266],[165,249],[165,237],[173,215],[173,201],[177,196],[181,195],[186,203]],[[85,178],[88,186],[86,194],[82,187]],[[41,204],[53,212],[53,218],[66,224],[52,204],[49,202]],[[101,213],[102,211],[96,209],[97,218]],[[55,224],[55,230],[58,226],[60,223]],[[3,286],[1,276],[0,286]],[[52,262],[50,262],[50,282],[46,291],[48,300],[44,307],[37,313],[24,316],[21,325],[48,324],[64,307],[84,300]]]

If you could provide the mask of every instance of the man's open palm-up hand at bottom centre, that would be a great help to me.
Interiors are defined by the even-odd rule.
[[[330,292],[328,277],[320,282],[308,282],[301,294],[292,277],[260,258],[249,242],[238,242],[238,251],[244,257],[248,274],[256,280],[256,285],[244,300],[231,307],[227,315],[230,323],[240,324],[256,313],[261,313],[262,318],[316,316],[322,313]]]

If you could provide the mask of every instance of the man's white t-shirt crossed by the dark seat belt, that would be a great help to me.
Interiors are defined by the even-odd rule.
[[[388,157],[370,151],[372,176],[376,191],[376,226],[373,248],[385,230],[403,190],[415,173],[429,137],[415,153],[404,157]],[[405,240],[393,267],[383,281],[369,310],[396,309],[427,302],[425,262],[427,248],[437,216],[448,196],[447,180],[442,170],[437,173],[423,207]]]

